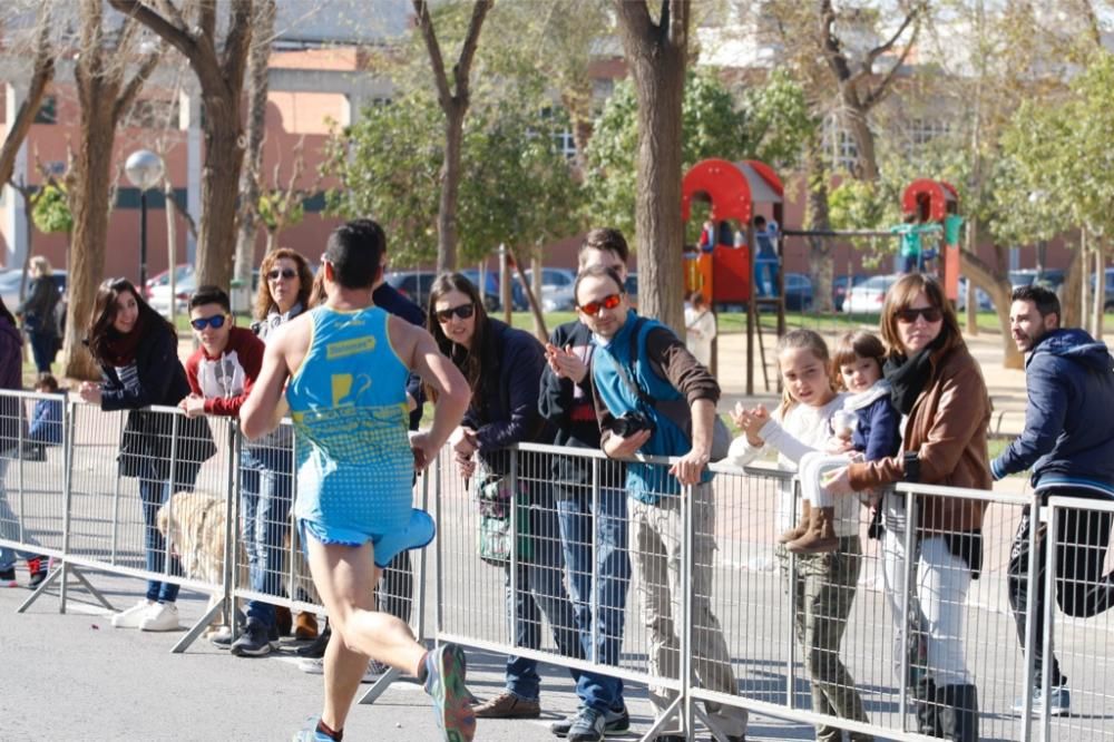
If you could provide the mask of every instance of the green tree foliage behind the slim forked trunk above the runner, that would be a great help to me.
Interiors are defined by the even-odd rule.
[[[437,255],[437,214],[443,127],[437,105],[407,96],[365,109],[353,126],[334,130],[322,167],[340,186],[331,213],[379,221],[400,267]],[[567,123],[538,100],[477,106],[465,121],[463,177],[457,222],[461,262],[479,260],[499,243],[537,246],[575,233],[579,189],[556,134]],[[525,256],[524,256],[525,257]]]

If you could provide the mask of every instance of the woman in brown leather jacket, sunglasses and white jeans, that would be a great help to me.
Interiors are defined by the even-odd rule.
[[[986,431],[990,399],[978,363],[959,333],[940,284],[909,274],[886,295],[881,334],[893,406],[902,414],[902,453],[852,463],[836,472],[831,492],[897,481],[990,489]],[[922,734],[978,740],[978,694],[964,653],[964,612],[983,562],[986,502],[917,496],[915,547],[905,553],[906,498],[886,495],[882,508],[883,576],[900,653],[910,654],[910,677]],[[912,570],[907,568],[915,560]],[[906,576],[912,575],[912,585]],[[902,615],[903,595],[909,611]],[[908,629],[908,640],[901,638]]]

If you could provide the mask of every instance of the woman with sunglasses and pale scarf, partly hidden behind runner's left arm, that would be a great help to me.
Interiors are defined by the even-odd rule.
[[[313,291],[313,271],[301,253],[290,247],[272,250],[260,265],[260,290],[255,297],[255,322],[252,332],[267,342],[274,330],[306,311]],[[248,448],[248,462],[241,468],[241,488],[244,494],[244,539],[251,556],[253,572],[265,575],[268,593],[282,595],[284,567],[283,540],[290,530],[290,508],[293,499],[294,437],[290,426],[278,426],[274,432],[254,441]],[[301,640],[317,636],[317,619],[311,613],[300,613],[294,619],[285,607],[267,611],[260,602],[247,605],[248,614],[274,613],[274,633],[289,634]],[[293,624],[293,626],[292,626]],[[231,635],[213,640],[221,647],[229,645]],[[257,643],[256,643],[257,644]],[[262,647],[243,648],[245,654]]]

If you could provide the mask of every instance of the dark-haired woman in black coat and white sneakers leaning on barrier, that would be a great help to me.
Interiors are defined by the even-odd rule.
[[[178,333],[144,301],[130,281],[109,279],[97,290],[87,343],[100,364],[101,382],[82,382],[78,393],[105,411],[130,410],[119,455],[120,476],[139,480],[147,572],[166,574],[166,541],[156,527],[158,509],[172,491],[193,489],[201,462],[214,450],[205,420],[197,420],[204,426],[202,432],[201,426],[186,424],[183,418],[177,426],[178,445],[172,451],[173,417],[144,409],[153,404],[176,407],[189,393],[186,370],[178,360]],[[193,443],[183,445],[205,436],[208,439],[204,450]],[[178,462],[174,471],[172,457]],[[170,556],[168,570],[182,574],[176,556]],[[145,598],[113,616],[113,626],[176,631],[177,597],[177,585],[149,579]]]

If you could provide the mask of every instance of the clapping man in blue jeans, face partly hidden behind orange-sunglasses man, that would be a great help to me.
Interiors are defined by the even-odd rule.
[[[626,240],[618,230],[593,230],[580,245],[579,267],[613,267],[625,281],[628,255]],[[593,407],[589,368],[593,349],[592,331],[576,321],[554,330],[546,344],[548,364],[541,374],[538,409],[557,427],[554,440],[557,446],[599,448],[599,423]],[[596,465],[599,489],[593,494],[593,459],[555,456],[551,462],[561,549],[580,644],[586,657],[617,665],[631,584],[623,467],[609,459],[599,461]],[[596,590],[596,615],[592,613],[593,589]],[[595,654],[593,623],[597,626]],[[631,716],[623,701],[620,678],[583,673],[576,693],[580,699],[577,713],[549,728],[557,736],[567,736],[573,742],[596,742],[604,734],[625,732],[629,728]]]

